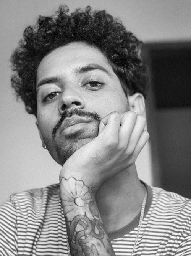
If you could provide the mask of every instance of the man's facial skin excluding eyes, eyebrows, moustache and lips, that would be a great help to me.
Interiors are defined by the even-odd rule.
[[[77,72],[77,69],[88,64],[100,65],[108,73],[98,69]],[[60,82],[46,83],[37,90],[37,122],[53,159],[63,164],[63,161],[58,159],[58,153],[62,152],[63,145],[65,152],[75,152],[97,136],[99,126],[98,122],[87,124],[78,136],[78,140],[75,137],[68,139],[66,136],[56,136],[53,140],[53,127],[65,111],[77,107],[83,111],[96,112],[102,119],[112,111],[126,112],[128,101],[118,77],[104,55],[99,50],[82,43],[71,43],[58,48],[42,59],[37,70],[37,84],[42,79],[52,76],[58,76]],[[88,84],[91,80],[104,84],[97,84],[97,88],[95,86],[91,88]],[[57,96],[44,102],[44,97],[51,92],[56,92]],[[59,155],[64,155],[65,152]]]

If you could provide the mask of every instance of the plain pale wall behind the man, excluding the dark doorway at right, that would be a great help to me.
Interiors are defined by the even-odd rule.
[[[106,9],[145,42],[191,40],[190,0],[1,0],[0,203],[11,193],[58,182],[60,166],[42,149],[35,118],[13,97],[9,58],[24,28],[34,24],[39,14],[52,15],[60,3],[71,11],[86,5]],[[152,184],[149,144],[137,167],[139,177]]]

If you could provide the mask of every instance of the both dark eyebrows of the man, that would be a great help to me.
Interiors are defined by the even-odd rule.
[[[74,69],[74,73],[82,74],[82,73],[86,73],[91,70],[100,70],[100,71],[107,73],[109,76],[111,76],[111,74],[107,71],[107,69],[105,69],[104,67],[102,67],[98,64],[88,64],[86,66],[76,68],[76,69]],[[44,84],[61,83],[61,82],[62,82],[62,79],[58,76],[44,78],[44,79],[40,80],[40,82],[37,84],[36,90],[38,90],[39,87]]]

